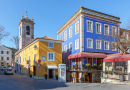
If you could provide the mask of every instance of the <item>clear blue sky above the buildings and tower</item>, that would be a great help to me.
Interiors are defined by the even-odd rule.
[[[19,35],[18,23],[22,15],[33,17],[34,38],[49,36],[57,38],[57,30],[81,7],[120,17],[124,28],[130,18],[130,0],[0,0],[0,25],[10,35],[1,41],[2,45],[15,48],[11,42]]]

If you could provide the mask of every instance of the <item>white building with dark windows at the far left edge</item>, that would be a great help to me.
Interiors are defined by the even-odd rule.
[[[12,50],[0,45],[0,66],[11,65]]]

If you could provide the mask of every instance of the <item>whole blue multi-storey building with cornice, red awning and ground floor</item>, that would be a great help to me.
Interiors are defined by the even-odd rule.
[[[84,7],[76,11],[57,31],[57,39],[64,41],[62,59],[67,65],[67,81],[100,82],[102,70],[86,68],[101,66],[106,55],[118,53],[112,44],[118,43],[115,36],[119,28],[119,17]]]

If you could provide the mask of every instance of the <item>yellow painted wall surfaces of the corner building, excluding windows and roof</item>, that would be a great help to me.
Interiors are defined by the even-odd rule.
[[[46,65],[57,65],[62,63],[62,43],[54,42],[54,48],[48,48],[48,42],[46,41],[37,41],[36,42],[37,49],[34,49],[34,43],[30,44],[29,47],[23,49],[21,52],[21,65],[27,66],[28,56],[30,55],[30,66],[36,65],[36,76],[38,76],[38,60],[41,60],[41,67],[39,68],[39,77],[44,77],[47,74],[47,66]],[[55,61],[47,61],[47,52],[55,52]],[[34,53],[36,53],[36,61],[34,62]],[[46,61],[42,61],[42,56],[46,56]],[[25,62],[26,57],[26,62]],[[24,58],[24,62],[23,62]],[[26,70],[25,70],[26,69]],[[22,72],[26,72],[28,74],[28,66],[26,68],[22,68]],[[30,68],[30,74],[33,75],[33,67]],[[55,70],[55,75],[58,75],[58,70]]]

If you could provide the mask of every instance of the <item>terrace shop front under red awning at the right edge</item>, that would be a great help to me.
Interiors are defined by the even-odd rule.
[[[130,80],[130,54],[113,54],[103,60],[103,82]]]

